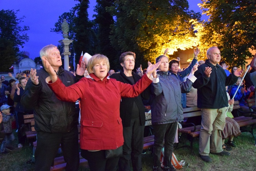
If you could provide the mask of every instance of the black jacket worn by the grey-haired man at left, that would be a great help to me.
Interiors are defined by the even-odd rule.
[[[29,79],[20,101],[26,109],[34,109],[35,130],[60,133],[77,127],[75,103],[57,99],[45,81],[49,74],[44,69],[38,70],[37,75],[39,84],[35,85]],[[57,75],[65,86],[76,82],[75,76],[61,67]]]

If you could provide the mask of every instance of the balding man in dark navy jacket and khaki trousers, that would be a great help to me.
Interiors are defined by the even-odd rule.
[[[225,86],[236,83],[241,73],[236,71],[227,77],[223,68],[218,65],[221,60],[218,47],[210,47],[207,50],[207,58],[195,72],[197,80],[193,87],[197,88],[197,106],[202,108],[199,154],[203,161],[211,162],[210,152],[220,156],[230,155],[222,149],[221,136],[228,106]]]

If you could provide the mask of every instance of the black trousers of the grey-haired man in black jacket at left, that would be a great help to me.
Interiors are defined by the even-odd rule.
[[[75,126],[65,133],[48,133],[37,131],[37,148],[35,148],[35,170],[50,170],[52,162],[61,144],[66,170],[75,171],[79,167],[78,130]]]

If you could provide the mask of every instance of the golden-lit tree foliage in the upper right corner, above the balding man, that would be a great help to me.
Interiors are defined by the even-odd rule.
[[[253,57],[249,49],[256,48],[255,4],[255,0],[202,0],[203,14],[209,15],[207,22],[199,24],[204,27],[197,30],[202,55],[218,46],[230,66],[243,66],[246,58]]]

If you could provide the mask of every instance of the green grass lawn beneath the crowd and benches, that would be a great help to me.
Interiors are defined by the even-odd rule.
[[[256,129],[256,128],[255,128]],[[256,131],[254,129],[254,132]],[[178,160],[185,160],[189,166],[183,167],[183,171],[234,171],[234,170],[256,170],[256,146],[251,133],[243,132],[239,137],[234,138],[237,147],[233,147],[229,157],[221,157],[210,154],[213,159],[211,163],[205,163],[201,160],[198,153],[198,138],[194,140],[195,156],[191,155],[189,148],[174,149]],[[15,140],[17,144],[17,140]],[[187,142],[189,145],[189,142]],[[182,145],[182,144],[180,144]],[[179,145],[179,146],[180,146]],[[0,155],[1,171],[32,171],[34,165],[26,163],[31,160],[32,147],[28,143],[22,149]],[[153,167],[153,158],[151,152],[147,151],[142,156],[143,171],[151,171]],[[88,168],[80,166],[80,171],[89,171]]]

